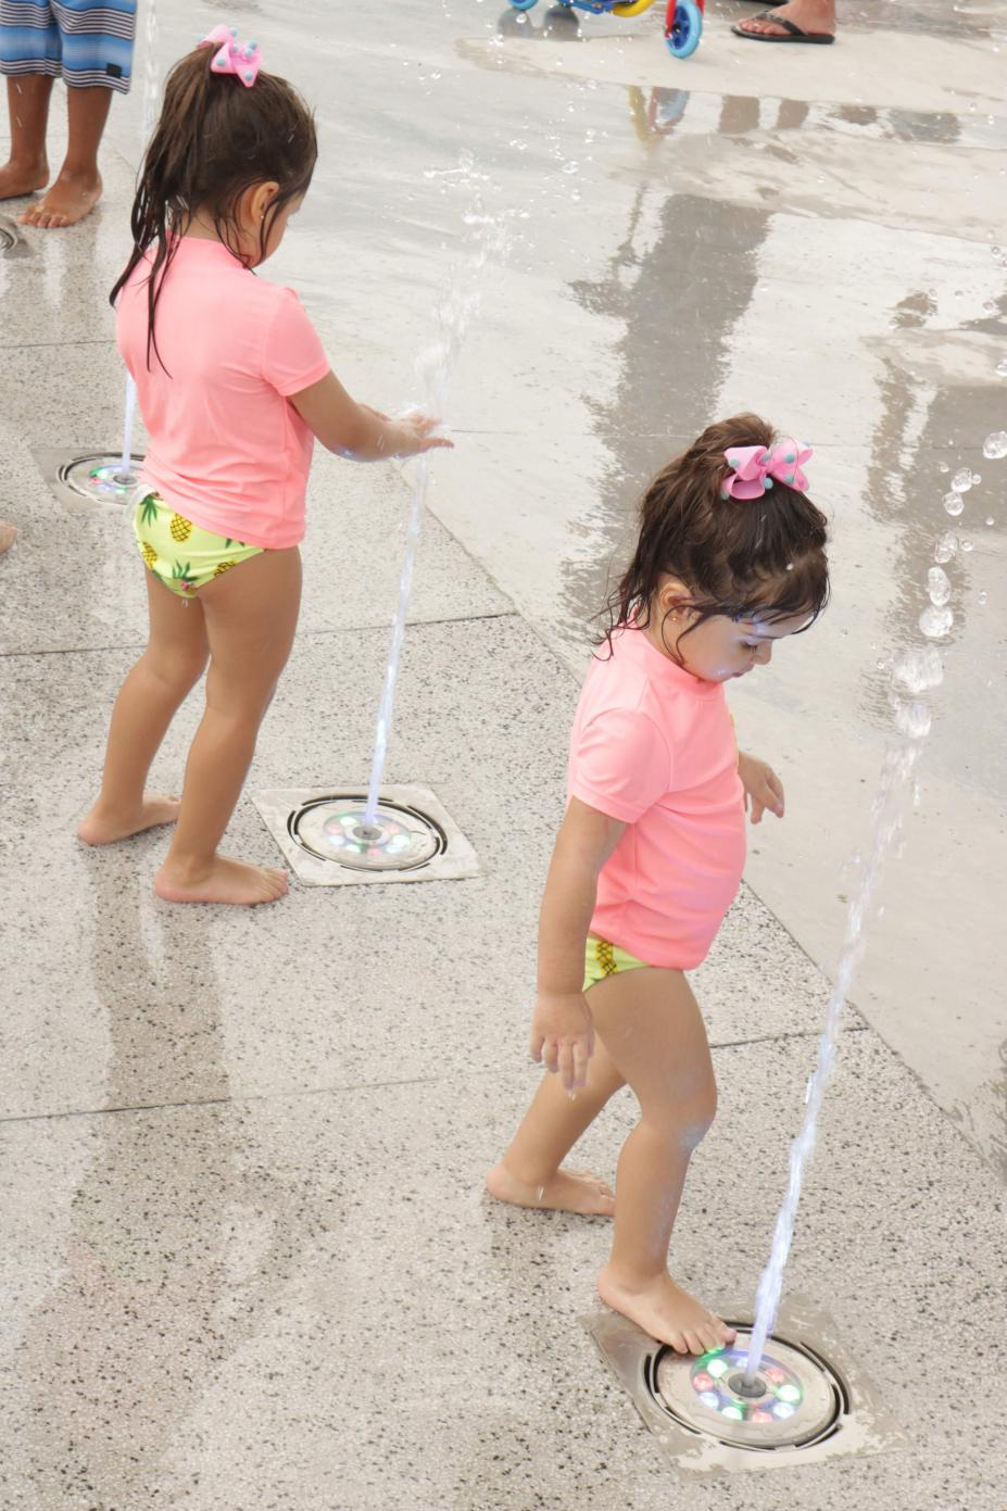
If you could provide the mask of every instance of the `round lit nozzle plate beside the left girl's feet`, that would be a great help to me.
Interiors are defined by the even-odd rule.
[[[435,819],[420,808],[384,801],[372,820],[361,796],[336,793],[296,808],[290,837],[319,860],[354,870],[416,870],[448,845]]]

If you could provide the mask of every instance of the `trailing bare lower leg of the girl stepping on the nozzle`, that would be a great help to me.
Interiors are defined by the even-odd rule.
[[[621,1085],[623,1077],[600,1043],[581,1091],[564,1091],[559,1076],[546,1073],[507,1153],[485,1177],[490,1195],[519,1207],[611,1216],[615,1210],[611,1188],[597,1176],[561,1165]]]

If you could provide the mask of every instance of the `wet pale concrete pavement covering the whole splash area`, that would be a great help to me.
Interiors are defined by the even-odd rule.
[[[316,183],[269,277],[363,399],[417,396],[476,193],[510,236],[452,381],[458,447],[437,459],[389,768],[437,790],[484,875],[295,885],[236,917],[151,899],[162,836],[100,855],[71,837],[142,642],[142,583],[121,521],[56,503],[33,453],[118,435],[104,298],[138,89],[115,101],[100,213],[0,257],[0,514],[23,530],[0,565],[0,1499],[1001,1511],[1007,461],[981,441],[1005,428],[1002,12],[871,5],[842,12],[836,47],[794,54],[732,38],[742,8],[724,6],[676,62],[656,11],[578,23],[540,5],[519,24],[445,0],[420,23],[372,0],[340,5],[339,30],[319,0],[218,11],[319,112]],[[157,57],[204,24],[175,0]],[[788,1274],[912,1452],[706,1484],[673,1476],[578,1327],[605,1225],[479,1191],[529,1089],[535,911],[588,621],[649,473],[741,406],[816,449],[835,601],[732,695],[789,811],[754,831],[697,979],[723,1108],[674,1263],[712,1302],[750,1296],[768,1247],[827,994],[815,963],[835,961],[894,736],[888,663],[921,639],[934,538],[972,548],[947,568],[919,805]],[[950,520],[960,465],[983,480]],[[366,777],[407,497],[393,470],[318,459],[302,633],[254,789]],[[231,840],[275,861],[248,801]],[[584,1157],[609,1171],[629,1118],[620,1102]]]

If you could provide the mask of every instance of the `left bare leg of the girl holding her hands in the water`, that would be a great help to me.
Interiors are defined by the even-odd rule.
[[[150,644],[115,700],[101,793],[79,828],[88,845],[110,845],[178,817],[178,799],[147,796],[147,772],[168,725],[203,675],[209,645],[198,600],[184,603],[147,576]]]

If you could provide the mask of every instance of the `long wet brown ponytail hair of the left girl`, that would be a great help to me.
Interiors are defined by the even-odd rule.
[[[115,304],[147,249],[156,246],[147,281],[148,367],[151,351],[157,352],[157,299],[178,248],[177,236],[191,218],[198,210],[209,213],[227,249],[249,266],[239,251],[240,196],[254,184],[280,184],[259,230],[265,258],[277,216],[307,192],[318,159],[314,116],[296,89],[275,74],[260,73],[245,88],[234,74],[212,73],[215,51],[197,47],[168,74],[160,119],[133,199],[133,251],[109,296]]]

